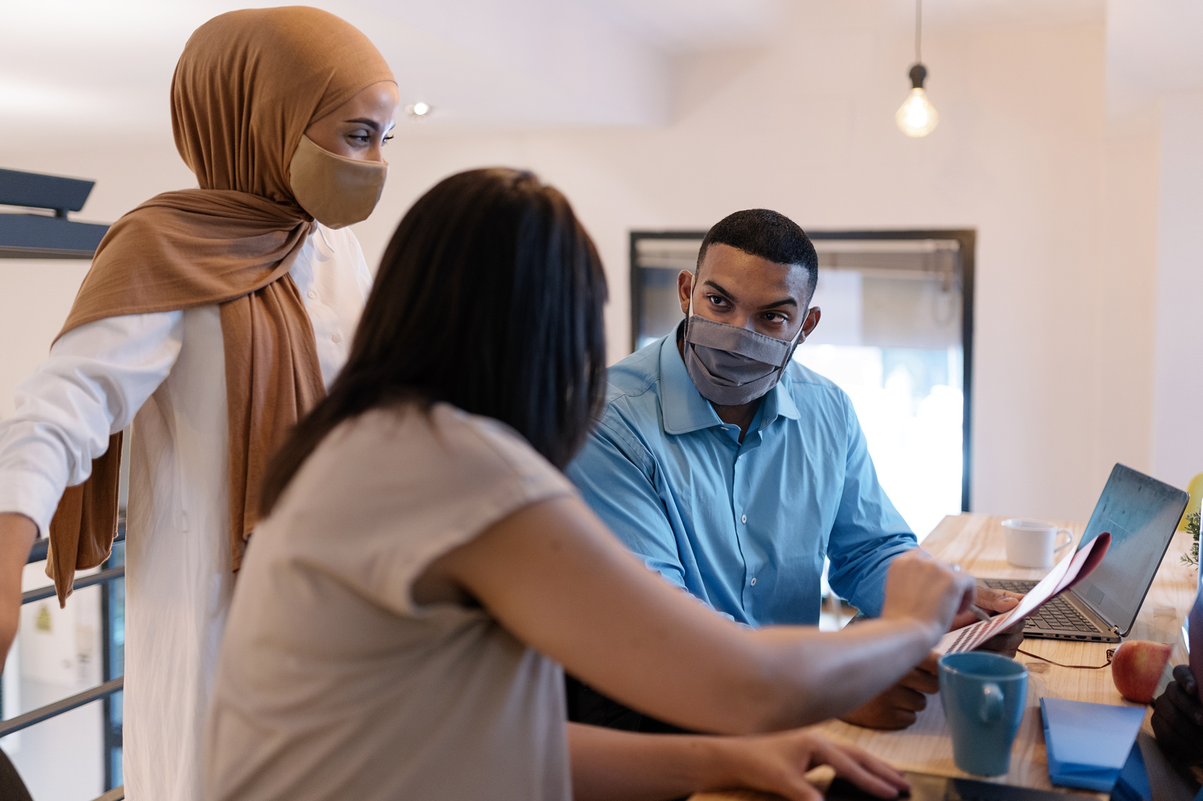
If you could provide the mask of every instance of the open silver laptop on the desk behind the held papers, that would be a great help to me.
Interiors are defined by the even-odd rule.
[[[1116,464],[1081,535],[1102,532],[1112,546],[1094,572],[1050,599],[1024,622],[1025,637],[1119,642],[1136,622],[1190,496],[1163,481]],[[1026,593],[1036,581],[979,578],[992,589]]]

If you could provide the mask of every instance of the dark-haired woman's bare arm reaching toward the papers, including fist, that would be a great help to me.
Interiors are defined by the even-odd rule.
[[[478,599],[516,637],[620,702],[721,734],[817,723],[918,664],[973,580],[913,551],[895,559],[882,617],[842,631],[755,631],[647,570],[576,498],[532,504],[434,562],[419,604]]]

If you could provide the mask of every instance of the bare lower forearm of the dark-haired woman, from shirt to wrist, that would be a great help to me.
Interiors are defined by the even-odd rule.
[[[663,801],[722,784],[722,738],[568,724],[573,797]]]

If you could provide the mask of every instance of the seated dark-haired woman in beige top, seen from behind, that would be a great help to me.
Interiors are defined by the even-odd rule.
[[[218,668],[209,799],[742,785],[812,801],[817,764],[882,797],[906,787],[805,731],[565,723],[559,664],[694,730],[832,717],[923,659],[973,586],[913,551],[879,619],[753,631],[652,575],[557,469],[604,391],[605,291],[568,202],[531,173],[452,176],[409,210],[346,366],[268,470]]]

